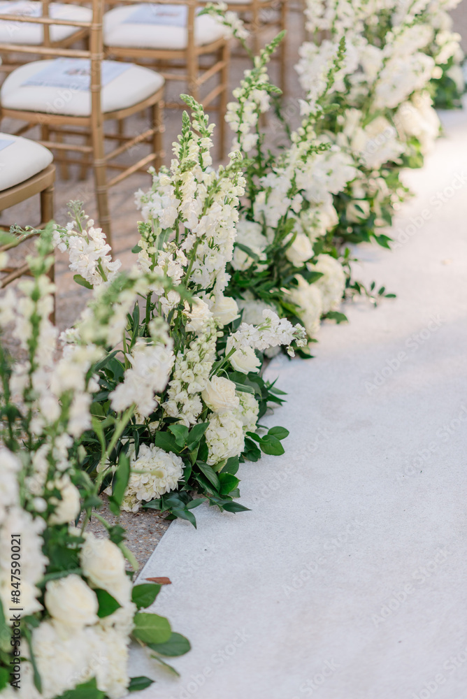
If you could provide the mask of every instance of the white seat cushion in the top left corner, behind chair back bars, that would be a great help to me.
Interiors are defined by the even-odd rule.
[[[34,0],[23,0],[16,2],[8,0],[0,2],[0,15],[31,15],[41,17],[42,3]],[[57,20],[78,20],[79,22],[90,22],[92,20],[92,10],[78,5],[65,5],[63,3],[50,3],[49,17]],[[76,34],[78,27],[64,27],[59,24],[50,25],[50,41],[63,41]],[[19,43],[27,45],[40,45],[44,40],[44,32],[41,24],[29,24],[29,22],[7,22],[0,21],[0,42]]]

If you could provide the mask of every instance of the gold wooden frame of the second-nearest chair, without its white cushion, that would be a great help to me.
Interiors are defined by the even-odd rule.
[[[48,0],[42,0],[48,3]],[[45,10],[45,8],[44,8]],[[17,110],[0,107],[0,118],[11,117],[15,120],[27,122],[24,127],[18,129],[16,136],[22,135],[36,125],[42,127],[42,140],[39,141],[50,150],[58,150],[62,154],[62,159],[67,163],[77,163],[82,166],[92,166],[94,170],[95,192],[97,208],[99,210],[99,224],[108,238],[108,243],[112,245],[110,231],[110,212],[108,208],[108,189],[122,182],[125,178],[136,171],[147,172],[150,164],[156,167],[161,165],[163,157],[161,134],[164,131],[163,121],[163,95],[164,85],[157,92],[145,100],[139,101],[131,107],[127,107],[113,112],[103,113],[101,108],[101,62],[103,61],[102,43],[102,0],[92,0],[92,22],[78,22],[77,20],[57,20],[43,15],[42,17],[29,17],[30,22],[38,24],[66,24],[73,27],[82,27],[89,30],[89,50],[78,50],[70,48],[57,48],[48,46],[14,46],[16,52],[24,54],[38,54],[43,58],[66,57],[89,59],[91,63],[91,113],[89,116],[76,117],[45,112],[34,112],[29,110]],[[6,15],[0,15],[0,20]],[[13,15],[8,15],[8,19],[15,19]],[[13,45],[0,43],[0,52],[13,50]],[[149,108],[152,114],[152,124],[150,128],[137,136],[124,136],[120,129],[117,134],[105,133],[103,129],[104,121],[117,120],[121,122],[134,113],[141,112]],[[71,127],[71,128],[70,128]],[[79,130],[79,127],[82,130]],[[57,141],[50,140],[50,134],[56,132]],[[63,143],[62,136],[85,136],[86,143]],[[59,139],[59,140],[58,140]],[[118,145],[105,152],[105,141],[117,140]],[[89,143],[90,141],[90,143]],[[141,143],[148,143],[151,152],[139,159],[135,164],[126,166],[115,161],[122,153]],[[80,159],[73,159],[66,155],[68,152],[78,152]],[[65,157],[66,156],[66,157]],[[83,160],[85,158],[85,160]],[[120,171],[115,177],[108,180],[108,169]]]

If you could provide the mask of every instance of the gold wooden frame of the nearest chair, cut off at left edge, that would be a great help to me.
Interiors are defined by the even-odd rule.
[[[38,227],[43,227],[52,220],[54,215],[54,185],[55,185],[55,165],[48,165],[44,170],[37,175],[29,178],[29,180],[24,180],[20,182],[19,185],[14,187],[9,187],[8,189],[3,189],[0,192],[0,211],[10,208],[10,206],[15,206],[20,204],[22,201],[30,199],[31,196],[35,194],[40,194],[41,196],[41,224]],[[0,226],[1,229],[5,229],[5,226]],[[17,247],[24,242],[24,240],[29,240],[31,236],[20,236],[14,243],[8,243],[7,245],[2,245],[0,247],[0,252],[6,252],[6,250],[11,250],[13,247]],[[0,278],[0,289],[4,289],[8,284],[14,282],[24,275],[30,274],[29,264],[25,262],[19,267],[8,267],[0,270],[5,276]],[[52,282],[55,278],[54,265],[50,268],[49,277]],[[55,322],[55,299],[54,299],[54,310],[52,316],[50,317],[52,323]]]

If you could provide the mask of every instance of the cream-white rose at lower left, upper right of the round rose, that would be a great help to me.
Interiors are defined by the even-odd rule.
[[[82,572],[89,582],[106,590],[124,605],[131,597],[131,582],[125,573],[125,559],[119,547],[108,539],[87,533],[80,552]]]

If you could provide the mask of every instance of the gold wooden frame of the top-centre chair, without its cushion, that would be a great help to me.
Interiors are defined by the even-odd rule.
[[[218,113],[217,133],[220,141],[220,159],[224,157],[225,140],[225,114],[227,111],[227,93],[229,89],[229,66],[230,66],[230,40],[229,38],[219,38],[216,41],[197,46],[194,36],[194,21],[196,10],[204,8],[205,3],[199,0],[105,0],[108,6],[115,5],[136,5],[136,4],[157,4],[157,5],[180,5],[187,7],[187,48],[175,49],[155,49],[155,48],[131,48],[122,46],[111,46],[104,43],[106,57],[117,59],[134,59],[140,65],[152,67],[166,80],[180,80],[187,82],[188,92],[197,102],[201,102],[203,108]],[[214,62],[208,66],[200,64],[202,56],[213,55]],[[176,63],[176,66],[174,65]],[[181,71],[181,72],[178,72]],[[201,98],[201,88],[203,85],[219,74],[220,82],[213,87],[210,92]],[[213,101],[219,97],[218,103]],[[178,102],[166,102],[168,109],[184,108]]]

